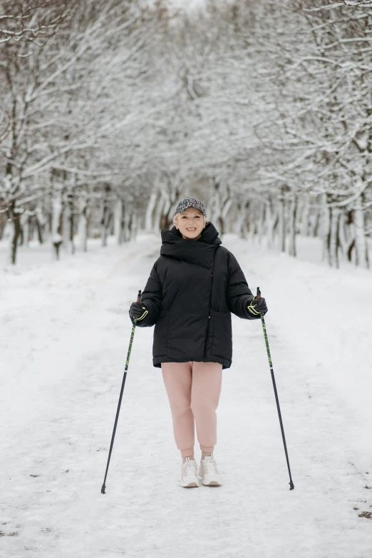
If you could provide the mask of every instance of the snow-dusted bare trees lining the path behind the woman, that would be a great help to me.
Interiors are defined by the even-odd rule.
[[[219,233],[368,267],[372,6],[0,1],[0,237],[105,245],[205,200]],[[77,234],[78,233],[78,234]]]

